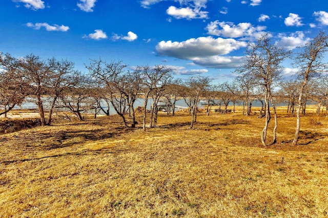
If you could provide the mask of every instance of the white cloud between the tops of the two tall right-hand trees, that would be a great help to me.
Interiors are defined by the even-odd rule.
[[[290,36],[285,36],[283,34],[279,35],[280,41],[276,42],[276,45],[279,47],[284,47],[288,50],[293,50],[297,46],[305,44],[310,40],[310,38],[305,38],[305,35],[302,31],[297,31],[292,33]]]

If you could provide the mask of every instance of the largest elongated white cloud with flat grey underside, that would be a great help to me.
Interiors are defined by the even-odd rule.
[[[199,57],[226,55],[245,46],[247,46],[246,42],[235,39],[214,39],[208,36],[182,42],[161,41],[156,45],[156,52],[160,56],[193,60]]]

